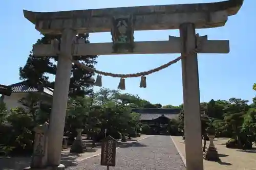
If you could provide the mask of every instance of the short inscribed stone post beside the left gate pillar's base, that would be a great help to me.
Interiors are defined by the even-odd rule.
[[[30,167],[24,169],[43,169],[47,166],[47,148],[48,148],[48,127],[49,124],[39,125],[34,128],[34,150]]]

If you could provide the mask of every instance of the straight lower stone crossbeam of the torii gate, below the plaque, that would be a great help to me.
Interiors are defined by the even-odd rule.
[[[201,41],[201,51],[199,53],[229,53],[228,40],[207,40],[207,35],[199,37]],[[58,45],[52,44],[34,44],[34,57],[51,57],[58,55]],[[113,53],[113,43],[75,43],[73,44],[72,56],[87,55],[114,55],[114,54],[176,54],[181,53],[180,37],[169,36],[169,41],[144,41],[135,42],[132,53]],[[95,50],[97,49],[97,50]]]

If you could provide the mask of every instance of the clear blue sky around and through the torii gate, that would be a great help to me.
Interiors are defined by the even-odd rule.
[[[217,1],[217,0],[216,0]],[[34,25],[23,17],[23,9],[31,11],[65,11],[125,6],[167,5],[216,2],[214,0],[129,0],[129,1],[1,1],[0,6],[0,84],[13,84],[19,80],[18,68],[24,66],[32,44],[40,38]],[[89,3],[88,3],[89,2]],[[256,1],[245,1],[237,15],[229,17],[225,27],[197,30],[208,39],[230,40],[229,54],[199,54],[199,81],[201,102],[210,99],[227,100],[231,97],[250,100],[255,96],[252,84],[255,80],[255,22]],[[168,35],[179,36],[178,30],[135,32],[135,41],[167,40]],[[90,41],[111,42],[110,33],[90,34]],[[119,74],[149,70],[179,56],[164,55],[115,55],[99,56],[96,68]],[[104,87],[116,89],[118,78],[103,77]],[[162,105],[183,103],[181,63],[178,62],[160,72],[147,76],[147,88],[139,88],[140,78],[126,79],[126,90],[141,98]],[[98,89],[98,88],[95,88]]]

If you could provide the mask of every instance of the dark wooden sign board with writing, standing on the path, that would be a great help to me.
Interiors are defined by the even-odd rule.
[[[116,141],[110,137],[106,137],[106,139],[102,142],[100,165],[116,165]]]

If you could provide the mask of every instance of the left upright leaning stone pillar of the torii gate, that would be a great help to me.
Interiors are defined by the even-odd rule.
[[[72,68],[70,59],[72,58],[72,44],[75,38],[76,32],[74,30],[63,30],[49,127],[48,165],[52,167],[64,167],[60,165],[60,155]]]

